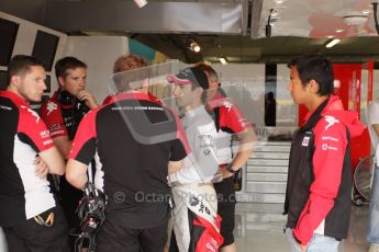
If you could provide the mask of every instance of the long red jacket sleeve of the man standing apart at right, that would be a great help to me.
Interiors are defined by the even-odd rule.
[[[333,116],[323,117],[315,126],[314,135],[314,181],[310,187],[310,197],[293,229],[293,236],[301,244],[309,243],[334,206],[347,147],[346,127]]]

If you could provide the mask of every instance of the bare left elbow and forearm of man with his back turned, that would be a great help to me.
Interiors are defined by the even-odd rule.
[[[82,190],[88,181],[87,164],[69,159],[66,165],[66,180],[74,187]]]

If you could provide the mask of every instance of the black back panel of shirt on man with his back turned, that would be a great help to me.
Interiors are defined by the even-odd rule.
[[[170,113],[166,108],[159,110],[159,104],[138,101],[138,107],[149,108],[125,110],[121,113],[114,110],[134,107],[135,104],[135,100],[119,101],[100,110],[96,117],[97,148],[104,168],[104,192],[109,198],[105,214],[118,218],[124,227],[154,228],[169,217],[167,163],[169,160],[183,159],[186,150],[176,139],[175,118],[167,117]],[[151,123],[140,125],[131,119],[134,118],[132,114],[135,117],[147,117],[145,121]],[[130,121],[129,124],[125,121]],[[140,133],[144,133],[148,128],[156,128],[161,122],[171,122],[169,127],[163,128],[163,133],[174,133],[174,139],[153,145],[144,142],[144,137],[138,141],[141,135],[135,136],[136,131],[131,129],[138,127]]]

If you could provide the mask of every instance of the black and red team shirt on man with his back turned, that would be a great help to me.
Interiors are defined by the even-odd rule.
[[[178,117],[147,94],[121,93],[79,125],[70,159],[96,160],[94,184],[108,195],[108,218],[153,228],[169,216],[167,164],[190,152]]]

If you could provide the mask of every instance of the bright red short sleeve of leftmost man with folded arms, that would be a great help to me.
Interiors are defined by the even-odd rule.
[[[31,107],[20,107],[18,134],[26,136],[27,144],[31,145],[36,152],[42,152],[54,146],[45,123]]]

